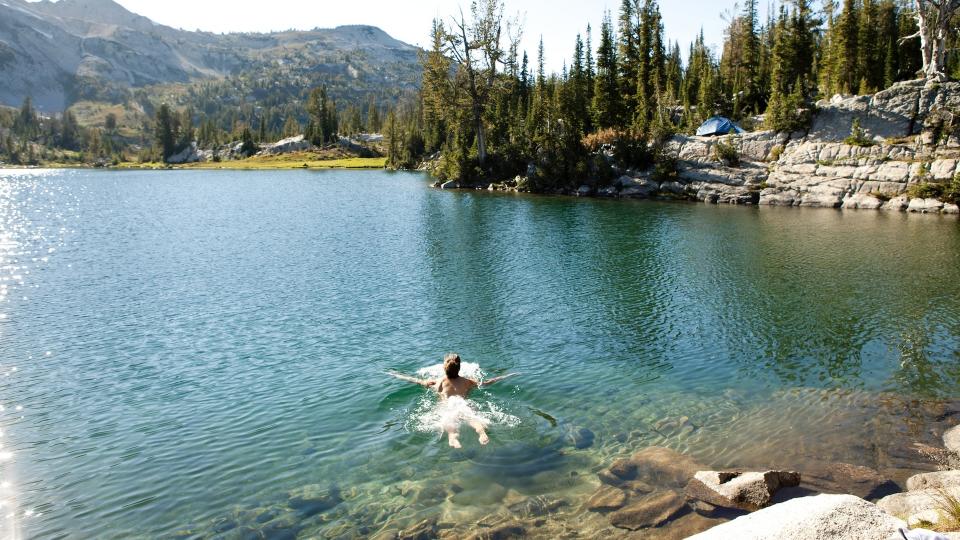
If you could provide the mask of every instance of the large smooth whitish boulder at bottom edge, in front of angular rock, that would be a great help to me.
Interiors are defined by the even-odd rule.
[[[900,527],[897,519],[853,495],[817,495],[775,504],[710,530],[691,540],[883,540]]]

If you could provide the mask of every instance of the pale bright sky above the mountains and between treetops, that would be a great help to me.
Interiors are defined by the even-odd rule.
[[[468,10],[470,0],[116,0],[134,13],[155,22],[186,30],[209,32],[269,32],[273,30],[331,28],[344,24],[378,26],[391,36],[426,47],[430,21],[446,21]],[[519,14],[524,22],[521,48],[536,62],[537,44],[543,36],[548,71],[559,72],[573,54],[577,33],[587,24],[594,30],[594,47],[600,36],[604,10],[616,21],[620,0],[505,0],[507,15]],[[763,6],[767,2],[760,2]],[[680,42],[686,54],[701,27],[708,45],[723,42],[721,13],[736,0],[660,0],[667,39]],[[761,8],[761,20],[766,9]]]

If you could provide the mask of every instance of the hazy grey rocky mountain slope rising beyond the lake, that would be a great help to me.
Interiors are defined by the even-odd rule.
[[[417,61],[416,47],[368,26],[211,34],[156,24],[112,0],[0,0],[0,104],[30,95],[46,111],[240,75],[311,84],[340,78],[358,92],[403,89],[418,84]]]

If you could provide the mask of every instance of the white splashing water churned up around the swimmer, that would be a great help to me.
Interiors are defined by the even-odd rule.
[[[420,368],[417,375],[439,379],[444,375],[443,364]],[[460,376],[482,382],[485,374],[479,364],[464,362],[460,365]],[[484,427],[517,427],[520,425],[520,418],[507,413],[489,399],[463,399],[457,396],[438,399],[435,392],[430,392],[417,402],[410,414],[407,428],[422,433],[442,433],[447,428],[455,429],[463,423],[478,423]]]

